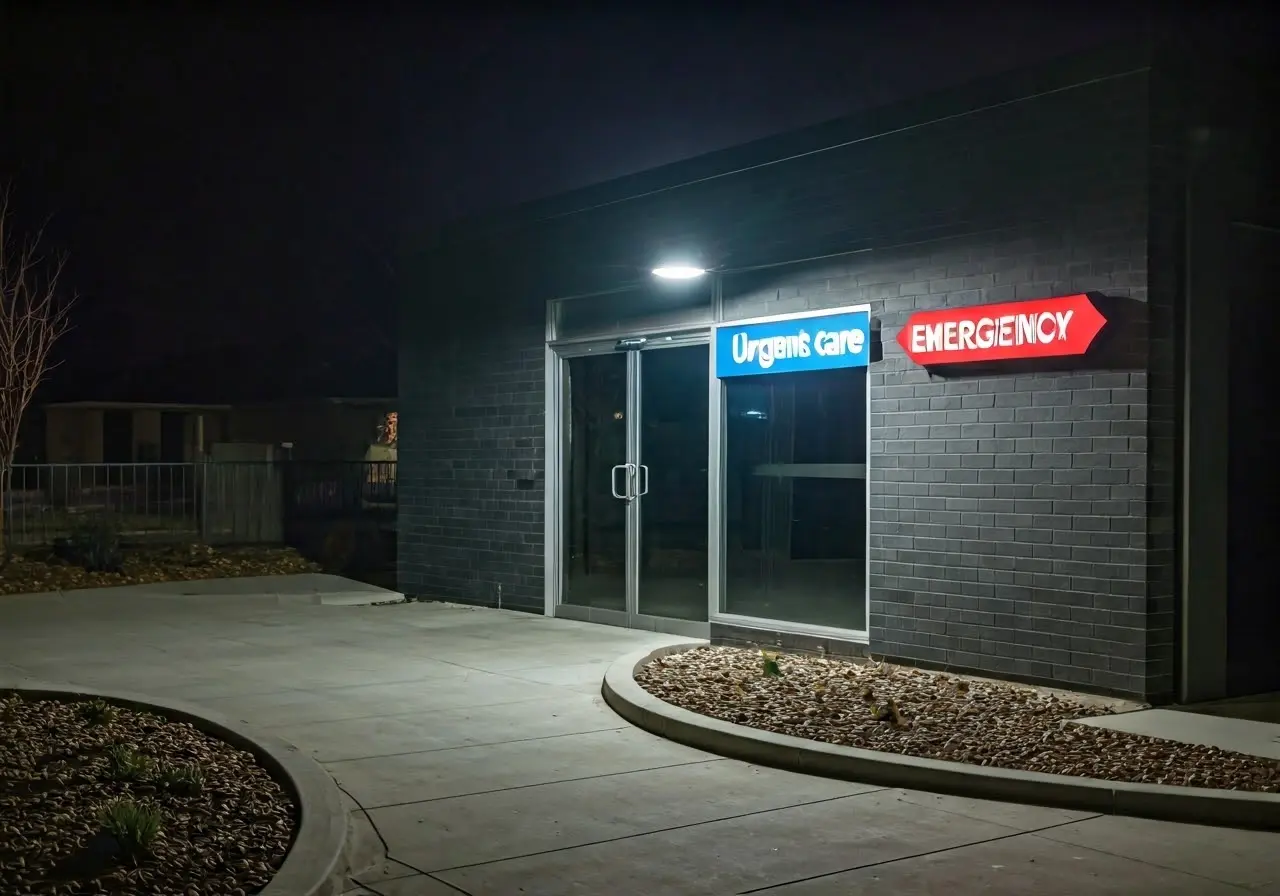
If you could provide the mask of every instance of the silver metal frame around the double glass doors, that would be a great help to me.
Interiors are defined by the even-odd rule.
[[[645,352],[663,351],[667,348],[687,348],[691,346],[710,346],[710,328],[696,328],[685,332],[644,332],[627,338],[648,338],[650,342],[640,348],[626,351],[627,356],[627,385],[623,413],[626,416],[625,457],[617,463],[627,465],[626,483],[627,494],[634,495],[627,500],[626,509],[626,571],[625,611],[598,609],[593,607],[577,607],[564,603],[564,524],[567,521],[566,486],[567,486],[567,458],[566,449],[570,447],[570,426],[572,415],[570,413],[572,388],[568,378],[568,361],[576,357],[590,357],[593,355],[617,353],[620,338],[593,339],[593,340],[564,340],[547,343],[547,421],[545,421],[545,451],[547,451],[547,493],[545,493],[545,529],[544,529],[544,612],[547,616],[580,620],[584,622],[599,622],[626,628],[640,628],[644,631],[660,631],[669,635],[685,637],[708,639],[710,636],[709,622],[694,622],[689,620],[676,620],[664,616],[649,616],[640,612],[640,539],[643,536],[644,492],[648,490],[648,476],[644,467],[643,449],[643,420],[641,396],[644,389],[644,361]],[[710,348],[708,348],[708,372],[710,374]],[[708,420],[710,428],[710,420]],[[712,445],[708,444],[708,462],[712,458]],[[712,475],[708,467],[708,475]],[[719,564],[719,558],[713,553],[716,543],[709,543],[708,564],[714,570]],[[712,582],[708,580],[708,595],[710,595]]]

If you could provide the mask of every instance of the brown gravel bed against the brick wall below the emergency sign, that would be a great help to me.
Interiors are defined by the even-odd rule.
[[[1280,762],[1070,724],[1112,710],[1034,687],[737,648],[658,658],[636,682],[703,716],[827,744],[1103,781],[1280,792]]]

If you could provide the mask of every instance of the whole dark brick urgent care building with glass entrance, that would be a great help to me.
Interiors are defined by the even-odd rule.
[[[1272,95],[1213,59],[1106,49],[436,234],[402,305],[401,588],[1153,701],[1280,690]],[[707,273],[652,276],[676,261]],[[1087,353],[899,342],[1078,294]],[[744,321],[837,312],[856,364],[724,366]]]

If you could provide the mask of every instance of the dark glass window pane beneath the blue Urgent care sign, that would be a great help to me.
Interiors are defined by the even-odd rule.
[[[867,370],[726,380],[724,611],[867,628]]]

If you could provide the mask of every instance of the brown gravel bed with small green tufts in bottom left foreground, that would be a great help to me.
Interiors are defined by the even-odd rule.
[[[132,858],[101,820],[120,799],[160,814]],[[252,754],[187,723],[96,701],[0,700],[5,896],[247,896],[284,860],[297,818]]]

